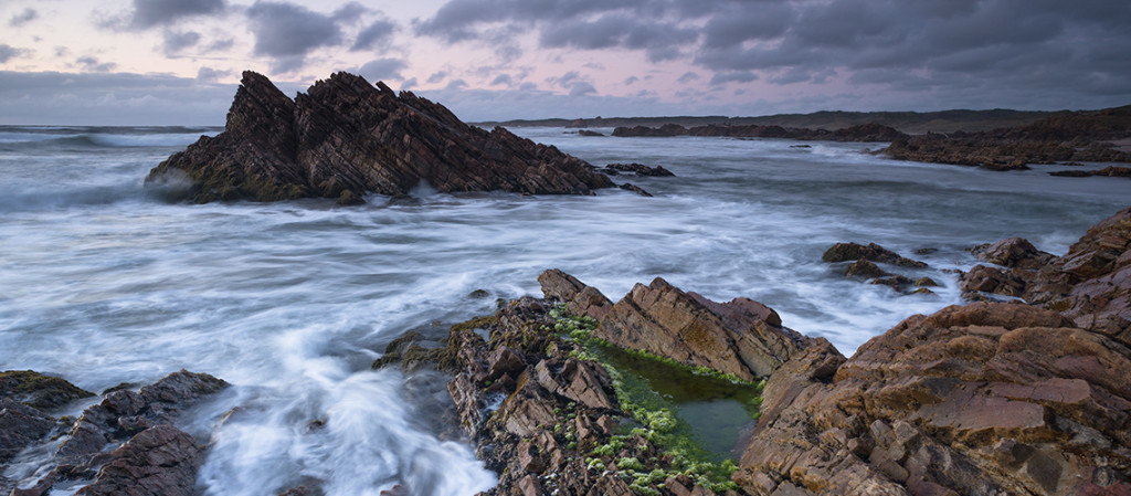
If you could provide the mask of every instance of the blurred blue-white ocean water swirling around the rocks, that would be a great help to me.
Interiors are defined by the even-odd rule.
[[[561,128],[513,131],[596,165],[639,162],[676,177],[613,178],[650,198],[420,185],[412,198],[357,207],[170,204],[143,187],[150,168],[219,130],[0,127],[0,370],[94,392],[182,368],[232,383],[179,426],[210,444],[198,480],[208,495],[492,487],[470,446],[446,435],[444,377],[370,364],[407,331],[442,333],[497,299],[541,296],[546,268],[613,300],[654,277],[715,300],[749,297],[848,356],[910,315],[961,302],[953,271],[977,263],[968,248],[1020,236],[1063,254],[1131,198],[1125,179],[1046,174],[1064,166],[992,172],[865,153],[878,144]],[[821,262],[839,241],[922,259],[930,268],[904,273],[941,285],[904,294],[845,279]],[[52,446],[26,451],[5,476],[31,484]]]

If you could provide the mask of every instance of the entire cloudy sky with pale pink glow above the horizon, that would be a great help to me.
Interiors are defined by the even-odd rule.
[[[0,123],[222,125],[240,72],[465,120],[1131,104],[1128,0],[3,0]]]

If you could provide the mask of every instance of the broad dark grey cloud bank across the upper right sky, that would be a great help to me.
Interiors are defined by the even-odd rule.
[[[653,62],[687,60],[720,84],[1131,97],[1123,1],[450,0],[414,28],[448,42],[510,33],[534,34],[542,48],[638,50]]]

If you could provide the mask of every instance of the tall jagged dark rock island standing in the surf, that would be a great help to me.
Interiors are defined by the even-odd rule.
[[[444,193],[588,195],[613,186],[552,146],[468,126],[443,105],[346,72],[292,101],[245,71],[224,132],[201,137],[146,178],[196,203],[326,197],[352,204],[365,193],[404,195],[421,182]]]

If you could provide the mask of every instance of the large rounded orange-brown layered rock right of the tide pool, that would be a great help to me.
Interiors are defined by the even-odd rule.
[[[770,376],[735,474],[745,490],[1076,494],[1096,471],[1129,484],[1131,376],[1116,370],[1131,349],[1057,313],[948,307],[872,339],[832,380],[811,373],[829,359],[843,360],[811,347]]]

